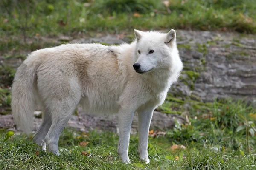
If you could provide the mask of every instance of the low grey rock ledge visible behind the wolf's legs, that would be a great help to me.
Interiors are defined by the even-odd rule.
[[[90,115],[81,110],[81,108],[77,109],[79,116],[72,115],[70,120],[68,121],[69,127],[74,127],[77,130],[81,130],[84,132],[88,132],[93,129],[97,130],[109,130],[112,132],[116,132],[118,125],[118,115],[109,115],[109,116],[99,116],[99,115]],[[175,125],[175,120],[183,123],[185,118],[178,114],[164,114],[155,111],[153,114],[153,118],[151,121],[151,129],[158,130],[169,130],[172,129]],[[41,118],[34,118],[34,126],[33,132],[38,129],[41,125]],[[15,122],[12,118],[12,115],[3,115],[0,117],[0,128],[4,129],[12,129],[17,131],[15,127]],[[138,117],[135,114],[134,120],[131,126],[131,133],[136,134],[138,129]]]

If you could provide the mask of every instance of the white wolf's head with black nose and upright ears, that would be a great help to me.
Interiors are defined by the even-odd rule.
[[[180,60],[176,32],[172,29],[167,34],[134,30],[136,36],[135,58],[133,67],[139,74],[156,70],[172,69],[175,60]],[[178,61],[181,63],[181,61]],[[182,63],[181,63],[182,65]]]

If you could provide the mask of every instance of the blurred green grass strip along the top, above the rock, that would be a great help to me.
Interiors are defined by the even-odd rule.
[[[118,34],[134,28],[256,33],[254,0],[168,2],[166,7],[161,0],[2,0],[0,32],[27,37],[92,31]]]

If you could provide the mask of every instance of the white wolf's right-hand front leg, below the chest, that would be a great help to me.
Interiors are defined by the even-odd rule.
[[[139,118],[139,146],[138,153],[140,160],[145,161],[146,164],[150,162],[148,159],[148,131],[152,119],[154,108],[152,106],[138,111]]]

